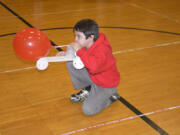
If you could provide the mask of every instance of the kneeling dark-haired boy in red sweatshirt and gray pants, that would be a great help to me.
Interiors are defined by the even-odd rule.
[[[110,43],[104,34],[99,33],[95,21],[81,20],[74,26],[73,31],[75,42],[70,45],[84,68],[78,69],[73,62],[67,62],[74,88],[82,89],[72,94],[70,100],[83,102],[83,113],[94,115],[119,98],[116,89],[120,75]]]

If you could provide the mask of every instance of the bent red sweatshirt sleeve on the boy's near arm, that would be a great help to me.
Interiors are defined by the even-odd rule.
[[[98,53],[90,55],[85,48],[82,48],[77,51],[77,55],[91,74],[103,71],[103,65],[106,62],[106,53],[104,51],[98,51]]]

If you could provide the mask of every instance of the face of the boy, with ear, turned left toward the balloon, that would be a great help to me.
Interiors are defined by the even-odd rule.
[[[74,36],[75,36],[75,42],[78,43],[81,47],[89,48],[94,43],[93,36],[86,39],[86,36],[84,35],[84,33],[80,31],[75,31]]]

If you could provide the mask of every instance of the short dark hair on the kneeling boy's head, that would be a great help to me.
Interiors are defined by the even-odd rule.
[[[91,35],[94,35],[94,41],[96,41],[99,35],[99,26],[94,20],[83,19],[76,23],[73,31],[84,33],[86,39],[88,39]]]

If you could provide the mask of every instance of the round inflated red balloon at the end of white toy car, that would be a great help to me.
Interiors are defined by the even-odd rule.
[[[20,58],[36,61],[46,56],[52,46],[50,40],[42,31],[36,28],[26,28],[15,35],[13,48]]]

